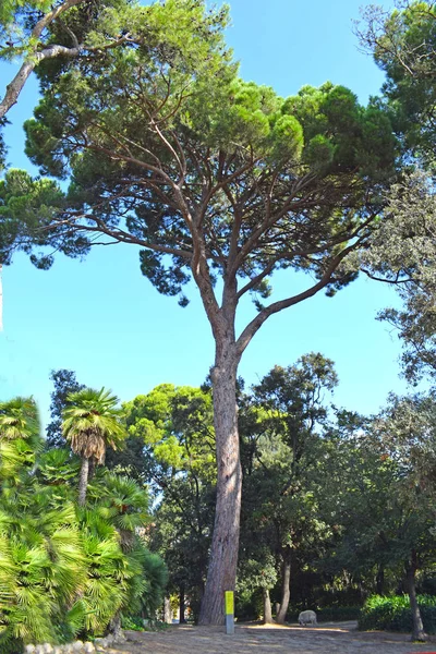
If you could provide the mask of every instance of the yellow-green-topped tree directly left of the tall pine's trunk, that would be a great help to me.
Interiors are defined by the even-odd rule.
[[[126,446],[142,443],[145,480],[156,496],[150,544],[169,569],[169,590],[197,618],[214,520],[215,439],[210,392],[161,384],[124,404]],[[124,460],[112,455],[112,464]],[[141,462],[140,462],[140,465]],[[118,465],[116,467],[117,470]]]

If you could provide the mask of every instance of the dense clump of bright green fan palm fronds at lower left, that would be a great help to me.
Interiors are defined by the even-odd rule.
[[[0,405],[2,652],[102,634],[119,611],[153,616],[166,584],[136,532],[146,491],[102,472],[80,508],[77,461],[43,446],[33,400]]]

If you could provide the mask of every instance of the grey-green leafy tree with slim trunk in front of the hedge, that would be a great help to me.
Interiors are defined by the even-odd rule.
[[[416,411],[420,405],[422,412]],[[349,435],[341,428],[339,439],[332,436],[336,452],[325,462],[328,493],[323,504],[334,538],[322,565],[366,577],[366,593],[372,586],[379,594],[392,590],[385,584],[390,573],[409,594],[413,640],[426,639],[416,572],[434,561],[434,484],[427,476],[433,461],[420,464],[432,448],[433,411],[428,399],[391,398],[379,416],[348,419]]]

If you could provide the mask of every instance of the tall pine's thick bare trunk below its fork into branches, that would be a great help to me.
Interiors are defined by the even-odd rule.
[[[234,591],[239,548],[242,471],[239,450],[234,342],[217,347],[211,372],[217,447],[214,535],[199,625],[223,625],[225,591]]]

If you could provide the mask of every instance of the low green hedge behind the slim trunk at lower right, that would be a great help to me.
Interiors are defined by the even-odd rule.
[[[419,595],[417,604],[424,629],[427,633],[436,633],[436,597]],[[408,595],[383,597],[372,595],[361,609],[359,629],[370,631],[382,629],[385,631],[412,631],[412,611]]]

